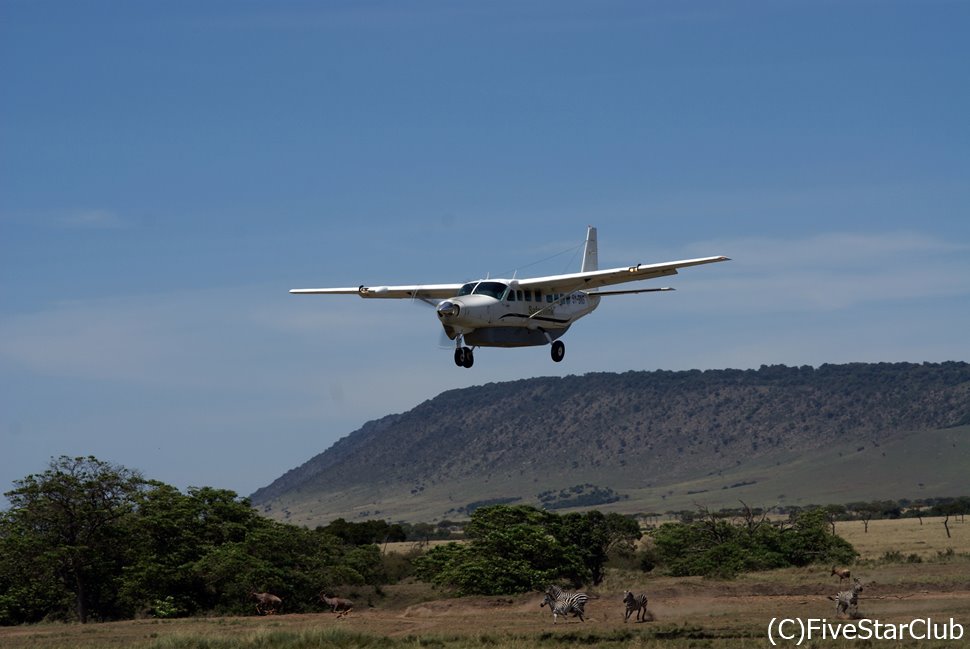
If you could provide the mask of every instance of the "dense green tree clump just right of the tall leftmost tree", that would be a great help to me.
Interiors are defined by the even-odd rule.
[[[252,613],[252,591],[283,598],[285,610],[312,610],[335,584],[382,583],[375,545],[352,546],[320,530],[259,516],[248,499],[209,487],[181,494],[153,483],[139,499],[139,552],[123,593],[135,610],[166,616]]]

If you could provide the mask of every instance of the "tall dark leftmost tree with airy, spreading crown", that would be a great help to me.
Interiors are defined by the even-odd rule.
[[[8,597],[48,602],[70,597],[82,623],[116,617],[114,577],[125,563],[126,526],[143,480],[134,471],[94,457],[61,456],[39,475],[14,482],[2,540],[17,545],[5,572],[19,575]]]

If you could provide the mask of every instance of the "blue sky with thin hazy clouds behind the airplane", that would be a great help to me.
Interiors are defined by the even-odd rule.
[[[968,359],[970,3],[0,0],[0,489],[249,494],[534,376]],[[288,289],[727,255],[454,366]],[[514,406],[514,404],[510,404]]]

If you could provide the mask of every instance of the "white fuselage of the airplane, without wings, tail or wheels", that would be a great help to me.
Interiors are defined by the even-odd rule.
[[[455,297],[438,303],[438,319],[448,337],[462,336],[479,347],[546,345],[599,306],[600,298],[524,289],[515,280],[468,282]]]

